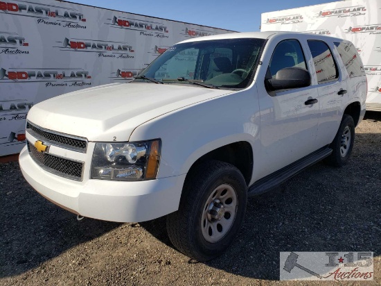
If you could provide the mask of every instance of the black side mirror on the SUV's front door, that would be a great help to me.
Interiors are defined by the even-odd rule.
[[[269,90],[290,90],[311,85],[311,75],[301,67],[286,67],[276,73],[275,78],[266,80]]]

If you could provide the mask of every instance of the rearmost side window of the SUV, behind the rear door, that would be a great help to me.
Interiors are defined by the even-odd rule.
[[[365,76],[364,67],[355,46],[348,42],[335,42],[335,47],[342,58],[346,71],[351,78]]]

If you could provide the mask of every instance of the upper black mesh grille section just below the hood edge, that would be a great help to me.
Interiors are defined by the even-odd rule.
[[[26,131],[28,131],[28,133],[36,137],[38,140],[61,146],[64,149],[82,153],[86,152],[87,140],[85,138],[49,131],[42,127],[31,124],[29,121],[26,123]]]

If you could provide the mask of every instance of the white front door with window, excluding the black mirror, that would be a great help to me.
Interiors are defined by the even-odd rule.
[[[276,45],[265,77],[274,78],[285,67],[308,69],[298,40],[283,40]],[[258,180],[316,150],[319,104],[307,104],[318,97],[317,88],[312,85],[269,92],[265,81],[257,80],[257,88],[262,152],[256,159],[263,162],[255,178]]]

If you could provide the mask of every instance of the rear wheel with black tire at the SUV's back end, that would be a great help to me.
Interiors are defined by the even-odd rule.
[[[351,115],[343,115],[342,123],[330,144],[332,153],[326,158],[325,162],[334,167],[346,165],[351,157],[353,142],[355,141],[355,123]]]

